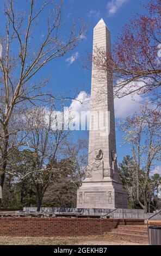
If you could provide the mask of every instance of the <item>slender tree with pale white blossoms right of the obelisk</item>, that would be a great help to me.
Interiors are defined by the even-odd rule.
[[[146,103],[141,113],[135,113],[122,123],[123,139],[131,147],[133,170],[137,181],[137,202],[147,212],[150,173],[160,161],[160,109],[153,110]],[[143,194],[141,202],[140,194]]]

